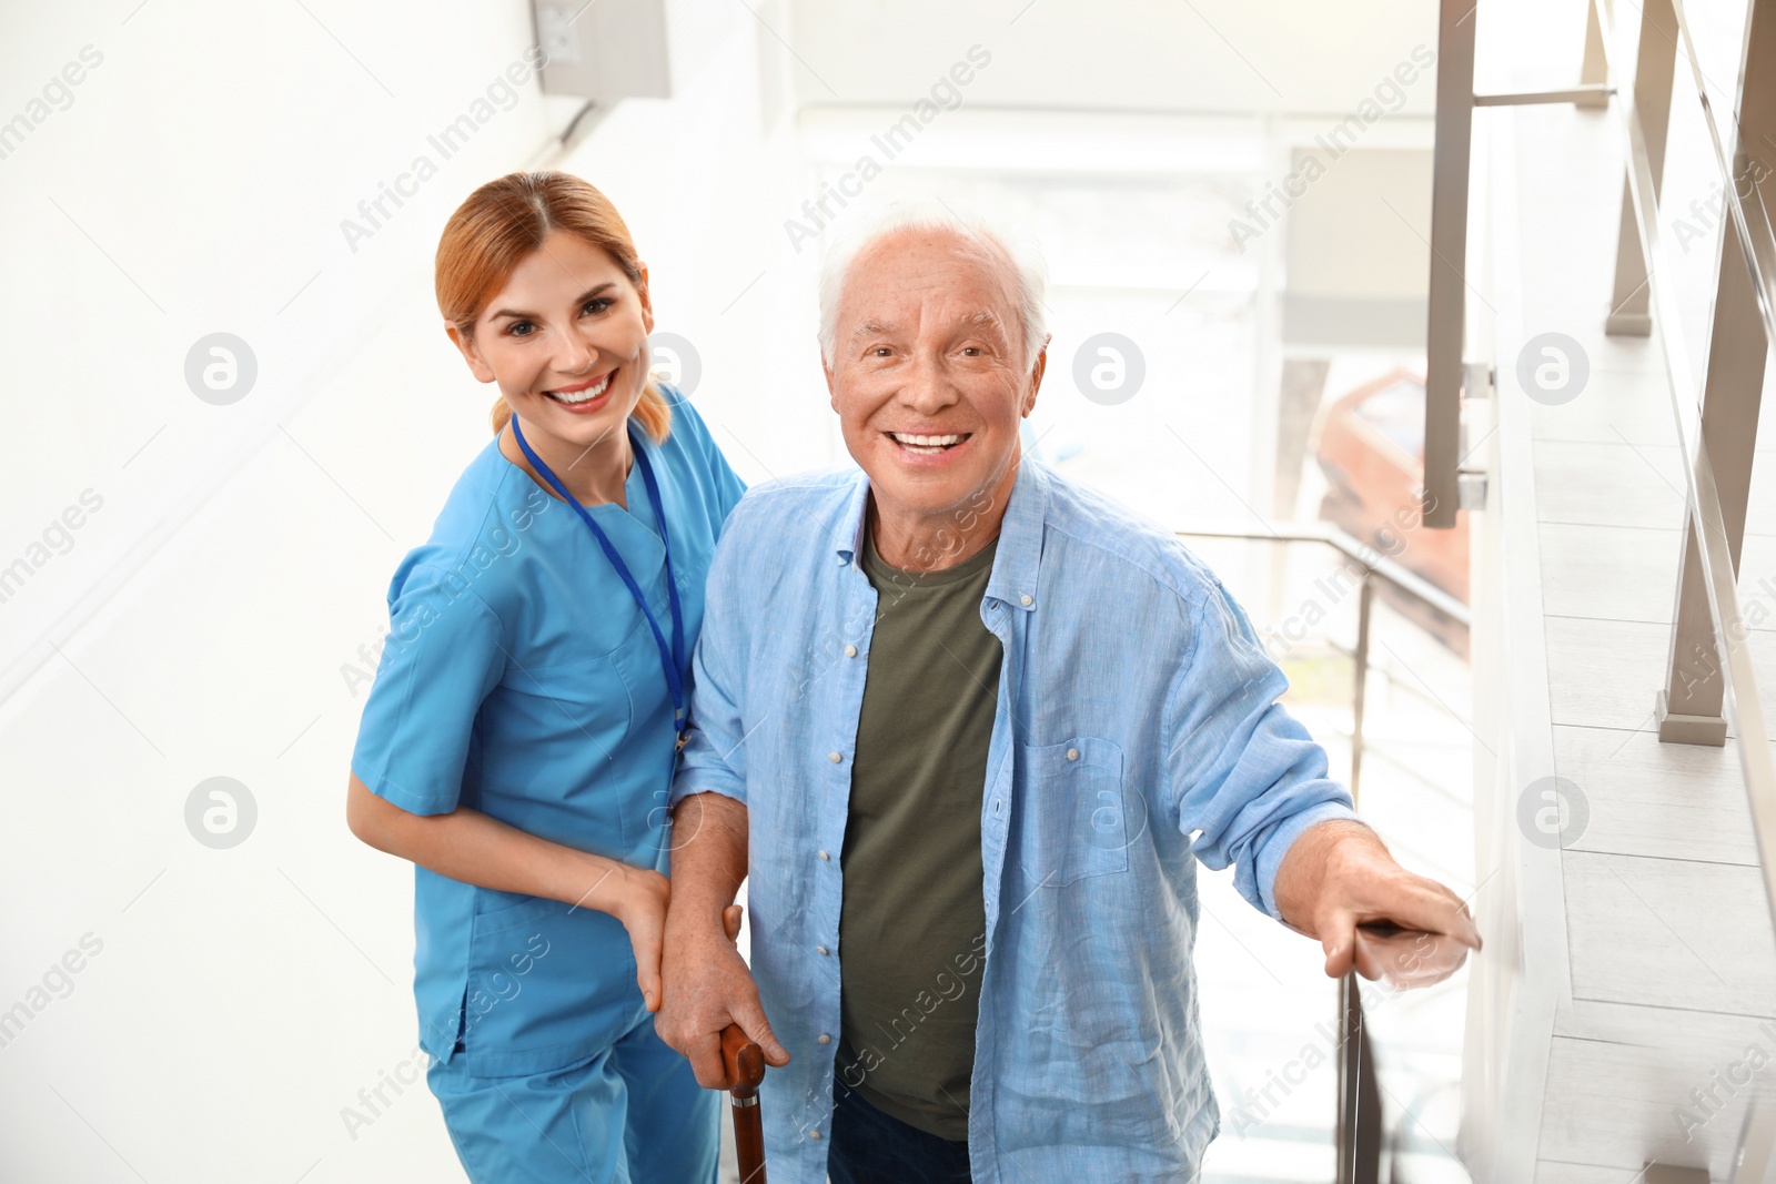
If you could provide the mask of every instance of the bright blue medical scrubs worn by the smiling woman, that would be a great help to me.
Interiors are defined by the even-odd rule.
[[[744,486],[696,410],[662,392],[666,442],[630,438],[659,481],[689,651]],[[670,630],[639,463],[623,488],[627,509],[590,513]],[[574,508],[497,437],[396,570],[389,618],[352,753],[373,793],[416,815],[467,806],[666,872],[675,733],[654,632]],[[718,1095],[654,1035],[616,918],[416,866],[414,921],[428,1083],[474,1180],[714,1179]]]

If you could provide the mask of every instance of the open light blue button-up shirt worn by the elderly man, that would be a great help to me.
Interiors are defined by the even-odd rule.
[[[856,469],[792,478],[728,518],[671,793],[748,808],[753,976],[792,1058],[762,1093],[778,1184],[826,1179],[838,854],[876,620],[858,566],[867,493]],[[980,797],[973,1179],[1193,1179],[1220,1125],[1190,957],[1195,864],[1234,864],[1275,916],[1289,843],[1355,818],[1350,793],[1275,701],[1288,680],[1215,573],[1028,456],[980,620],[1005,657]],[[934,983],[906,1022],[941,1003]]]

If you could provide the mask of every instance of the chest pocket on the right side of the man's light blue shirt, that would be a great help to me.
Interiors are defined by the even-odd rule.
[[[1019,744],[1018,861],[1032,884],[1060,888],[1128,870],[1146,813],[1122,785],[1122,749],[1103,737]]]

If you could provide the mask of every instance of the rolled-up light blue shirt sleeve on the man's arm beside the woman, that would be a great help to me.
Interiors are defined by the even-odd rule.
[[[678,754],[671,806],[691,793],[725,793],[746,801],[746,728],[741,703],[748,643],[732,527],[730,518],[709,568],[703,632],[691,651],[691,738]]]

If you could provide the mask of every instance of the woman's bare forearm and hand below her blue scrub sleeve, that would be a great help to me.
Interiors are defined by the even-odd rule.
[[[508,825],[478,809],[416,815],[377,797],[352,774],[346,825],[377,850],[410,859],[464,884],[503,893],[547,896],[609,912],[636,951],[636,982],[648,1010],[661,999],[661,932],[666,923],[666,877],[650,868],[563,847]]]

